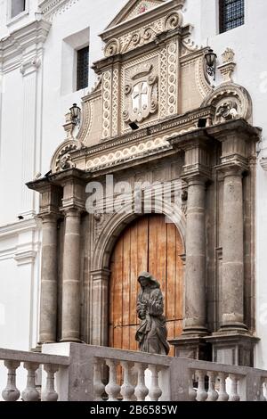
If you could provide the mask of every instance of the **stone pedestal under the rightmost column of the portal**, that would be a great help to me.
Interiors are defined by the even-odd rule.
[[[246,331],[227,331],[221,329],[212,336],[206,337],[206,342],[213,348],[213,362],[231,366],[254,366],[254,347],[260,341]]]

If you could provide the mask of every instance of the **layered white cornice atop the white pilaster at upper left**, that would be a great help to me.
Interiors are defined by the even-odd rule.
[[[14,70],[25,62],[35,62],[43,51],[50,27],[49,22],[38,19],[1,39],[0,64],[3,64],[3,71]]]

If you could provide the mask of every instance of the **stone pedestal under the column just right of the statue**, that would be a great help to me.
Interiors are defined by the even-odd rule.
[[[205,337],[182,334],[180,337],[168,341],[174,346],[174,356],[202,361],[211,361],[212,348]]]

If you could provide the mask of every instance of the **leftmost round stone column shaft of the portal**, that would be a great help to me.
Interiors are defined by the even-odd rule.
[[[42,216],[43,244],[40,300],[40,343],[56,341],[58,255],[57,220],[55,214]]]

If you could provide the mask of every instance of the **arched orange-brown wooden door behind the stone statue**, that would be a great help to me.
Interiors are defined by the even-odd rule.
[[[161,285],[168,339],[182,333],[182,252],[179,231],[163,215],[138,218],[119,236],[110,259],[110,347],[137,349],[137,277],[142,271],[149,271]]]

